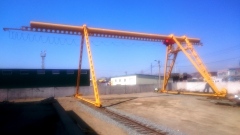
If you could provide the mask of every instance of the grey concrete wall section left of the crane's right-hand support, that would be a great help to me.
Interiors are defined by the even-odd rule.
[[[154,91],[154,85],[130,86],[98,86],[100,95],[128,94]],[[83,86],[79,91],[82,95],[94,95],[93,87]],[[0,101],[28,98],[66,97],[75,94],[75,87],[49,87],[49,88],[19,88],[0,89]]]

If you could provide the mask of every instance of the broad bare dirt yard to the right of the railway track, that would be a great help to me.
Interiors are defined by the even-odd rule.
[[[189,135],[239,135],[240,107],[219,105],[207,97],[160,93],[101,96],[111,106],[179,133]]]

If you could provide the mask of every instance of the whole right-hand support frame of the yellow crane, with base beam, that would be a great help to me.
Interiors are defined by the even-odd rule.
[[[179,51],[182,51],[187,58],[190,60],[190,62],[193,64],[193,66],[197,69],[197,71],[202,75],[204,80],[209,84],[209,86],[213,90],[213,94],[205,94],[205,93],[191,93],[191,92],[183,92],[182,94],[192,94],[192,95],[205,95],[205,96],[217,96],[217,97],[225,97],[227,94],[226,89],[222,89],[221,91],[218,90],[216,87],[215,83],[213,82],[211,75],[208,73],[206,66],[198,56],[197,52],[195,51],[193,45],[191,42],[188,40],[186,36],[183,37],[185,40],[185,46],[183,43],[180,43],[177,38],[174,35],[170,35],[170,44],[167,45],[167,58],[166,58],[166,64],[165,64],[165,71],[164,71],[164,83],[161,92],[167,92],[167,93],[176,93],[176,92],[169,92],[166,90],[168,80],[170,78],[177,54]],[[173,44],[175,43],[176,46],[175,48],[173,47]],[[173,55],[173,58],[170,59],[169,56]],[[170,62],[172,61],[172,62]],[[169,65],[170,62],[170,65]]]

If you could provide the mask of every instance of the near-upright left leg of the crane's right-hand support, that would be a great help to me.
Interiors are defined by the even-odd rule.
[[[168,45],[167,46],[167,51],[166,51],[166,63],[164,67],[164,79],[163,79],[163,85],[162,85],[162,90],[161,92],[166,92],[166,87],[168,84],[168,80],[171,77],[172,69],[175,64],[176,58],[178,54],[178,49],[174,48],[173,45]]]

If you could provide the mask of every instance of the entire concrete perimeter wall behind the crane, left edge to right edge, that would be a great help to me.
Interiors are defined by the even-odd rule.
[[[226,88],[229,94],[240,93],[240,82],[218,82],[218,88]],[[117,85],[117,86],[99,86],[100,95],[107,94],[129,94],[141,92],[153,92],[156,84],[146,85]],[[169,83],[168,90],[187,90],[203,91],[204,82],[179,82]],[[80,87],[81,94],[93,95],[91,86]],[[0,89],[0,101],[27,98],[48,98],[48,97],[65,97],[73,96],[75,87],[49,87],[49,88],[21,88],[21,89]]]

